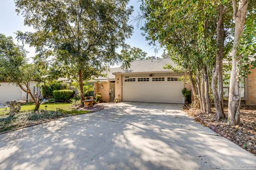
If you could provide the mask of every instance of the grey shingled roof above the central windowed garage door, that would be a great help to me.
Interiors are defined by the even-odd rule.
[[[164,65],[171,64],[172,66],[176,67],[175,64],[169,58],[159,58],[151,60],[135,60],[131,62],[131,67],[127,70],[123,70],[120,67],[118,68],[110,68],[110,71],[107,72],[106,77],[98,77],[94,80],[108,80],[108,79],[115,79],[115,75],[113,73],[143,73],[143,72],[167,72],[170,70],[166,70],[163,68]]]

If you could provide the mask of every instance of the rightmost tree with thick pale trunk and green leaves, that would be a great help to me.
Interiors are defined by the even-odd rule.
[[[229,97],[228,97],[228,124],[236,125],[240,121],[240,90],[239,77],[250,73],[248,69],[250,66],[249,55],[252,51],[255,52],[255,1],[247,0],[233,0],[233,20],[235,21],[234,43],[231,52],[232,69],[230,74]],[[249,5],[250,4],[250,5]],[[247,15],[247,19],[246,19]],[[246,27],[245,21],[247,20]],[[245,32],[244,32],[245,30]],[[254,32],[254,36],[253,36]],[[243,39],[243,33],[247,38]],[[255,42],[255,41],[254,41]],[[246,53],[246,51],[248,51]],[[249,54],[249,55],[248,55]],[[243,63],[246,64],[243,64]],[[254,62],[251,62],[254,66]],[[241,67],[239,66],[241,65]],[[246,65],[246,66],[245,66]],[[240,68],[240,69],[239,69]],[[242,69],[241,69],[242,68]],[[245,68],[245,69],[243,69]]]

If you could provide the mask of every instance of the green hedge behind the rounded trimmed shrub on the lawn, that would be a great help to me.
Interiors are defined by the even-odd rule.
[[[52,91],[68,89],[68,84],[61,81],[46,82],[41,85],[41,92],[45,97],[53,97]]]

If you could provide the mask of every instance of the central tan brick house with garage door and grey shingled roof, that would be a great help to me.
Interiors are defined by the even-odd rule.
[[[166,64],[176,66],[172,60],[161,58],[133,61],[128,70],[112,68],[107,77],[94,79],[94,94],[100,93],[105,102],[118,97],[120,101],[183,104],[181,90],[191,89],[180,80],[186,73],[165,70]]]

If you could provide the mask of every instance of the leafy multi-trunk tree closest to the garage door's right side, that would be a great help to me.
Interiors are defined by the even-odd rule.
[[[207,3],[205,4],[207,5]],[[146,39],[151,40],[151,44],[159,41],[162,46],[166,47],[170,58],[188,72],[194,101],[197,107],[198,103],[201,105],[200,107],[203,112],[205,112],[206,108],[203,88],[208,89],[205,92],[208,93],[206,95],[208,97],[207,112],[210,112],[209,82],[207,77],[205,77],[206,79],[204,80],[208,86],[204,87],[205,83],[201,83],[202,80],[199,78],[206,62],[211,58],[205,59],[206,50],[202,50],[205,46],[199,46],[201,42],[198,41],[198,37],[207,36],[206,38],[208,39],[213,37],[213,31],[205,31],[207,34],[203,33],[202,35],[201,32],[204,32],[204,27],[198,27],[198,25],[204,23],[201,13],[203,7],[206,6],[205,4],[194,1],[170,2],[148,0],[143,1],[141,10],[142,17],[146,20],[145,25],[142,27],[142,30],[146,32]],[[213,22],[208,24],[213,25]],[[207,53],[209,56],[212,51],[208,50]],[[197,77],[196,80],[195,77]]]

